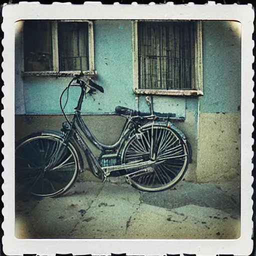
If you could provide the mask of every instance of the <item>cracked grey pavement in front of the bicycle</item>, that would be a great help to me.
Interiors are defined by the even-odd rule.
[[[16,200],[15,236],[235,239],[240,236],[239,191],[237,181],[181,181],[155,193],[128,184],[76,182],[60,197]]]

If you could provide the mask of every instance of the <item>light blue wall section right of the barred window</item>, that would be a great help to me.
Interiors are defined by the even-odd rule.
[[[201,112],[237,112],[240,106],[241,42],[237,21],[203,21]]]

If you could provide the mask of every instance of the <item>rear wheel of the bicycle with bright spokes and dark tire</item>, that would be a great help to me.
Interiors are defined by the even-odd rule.
[[[134,134],[127,141],[122,152],[122,163],[149,160],[151,148],[155,153],[155,164],[149,167],[151,172],[130,174],[129,182],[141,191],[169,189],[182,179],[187,169],[188,153],[184,142],[175,131],[164,125],[147,125],[141,133]]]

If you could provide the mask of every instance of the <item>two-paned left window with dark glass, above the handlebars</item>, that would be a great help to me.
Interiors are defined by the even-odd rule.
[[[24,21],[24,73],[94,74],[92,29],[87,20]]]

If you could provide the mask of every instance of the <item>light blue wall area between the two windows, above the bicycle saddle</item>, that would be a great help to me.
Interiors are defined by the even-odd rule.
[[[132,30],[130,20],[94,21],[95,68],[97,83],[104,94],[87,100],[89,112],[112,112],[116,105],[134,108],[132,92]]]

